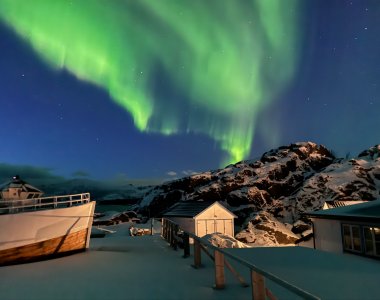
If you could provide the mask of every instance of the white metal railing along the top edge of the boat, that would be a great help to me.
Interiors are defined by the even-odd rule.
[[[90,193],[31,199],[0,200],[0,214],[62,208],[90,202]]]

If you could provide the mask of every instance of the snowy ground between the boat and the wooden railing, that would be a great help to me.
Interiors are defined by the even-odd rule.
[[[159,235],[92,239],[84,253],[1,267],[0,299],[251,299],[233,278],[214,290],[209,259],[191,263]]]

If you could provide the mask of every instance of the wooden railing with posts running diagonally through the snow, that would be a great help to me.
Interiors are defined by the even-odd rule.
[[[304,291],[303,289],[292,285],[291,283],[277,277],[274,274],[271,274],[270,272],[267,272],[261,268],[258,268],[254,264],[245,261],[241,257],[234,255],[230,252],[225,251],[223,248],[216,247],[214,245],[211,245],[208,242],[205,242],[195,234],[191,232],[187,232],[182,230],[178,224],[163,219],[163,226],[162,226],[162,237],[169,242],[169,244],[174,248],[177,249],[177,245],[179,242],[183,243],[183,249],[184,249],[184,257],[190,256],[190,243],[189,238],[193,239],[193,256],[194,256],[194,264],[193,266],[195,268],[201,267],[201,253],[202,251],[209,256],[213,262],[214,262],[214,268],[215,268],[215,288],[216,289],[223,289],[225,287],[225,274],[224,274],[224,267],[226,266],[232,274],[239,280],[242,286],[249,286],[244,278],[234,269],[232,268],[231,264],[226,260],[225,257],[228,257],[243,266],[246,266],[249,268],[251,273],[251,282],[250,285],[252,286],[252,299],[254,300],[264,300],[264,299],[270,299],[275,300],[277,297],[272,293],[271,290],[265,285],[265,279],[269,279],[272,282],[278,284],[279,286],[285,288],[286,290],[292,292],[293,294],[303,298],[303,299],[313,299],[317,300],[320,299],[319,297],[312,295],[311,293]],[[181,236],[179,236],[179,232],[181,232]],[[214,255],[212,255],[208,249],[214,250]]]

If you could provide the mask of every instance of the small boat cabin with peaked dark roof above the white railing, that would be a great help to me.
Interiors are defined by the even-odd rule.
[[[0,186],[0,200],[4,201],[40,198],[42,195],[41,190],[26,183],[17,175]]]

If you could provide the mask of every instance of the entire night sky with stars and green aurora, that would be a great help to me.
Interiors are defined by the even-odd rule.
[[[3,174],[161,181],[380,140],[377,0],[0,0],[0,49]]]

